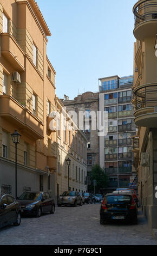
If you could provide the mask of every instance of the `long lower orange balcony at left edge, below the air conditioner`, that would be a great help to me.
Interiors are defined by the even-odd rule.
[[[43,123],[17,100],[8,95],[0,96],[0,116],[12,123],[24,135],[43,139]]]

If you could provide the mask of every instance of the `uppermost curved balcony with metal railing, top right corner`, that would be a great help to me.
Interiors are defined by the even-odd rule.
[[[156,0],[141,0],[133,7],[135,15],[134,36],[138,40],[144,40],[156,35],[157,3]]]

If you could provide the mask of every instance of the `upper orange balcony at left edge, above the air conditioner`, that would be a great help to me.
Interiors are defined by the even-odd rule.
[[[25,71],[25,53],[9,33],[1,33],[1,54],[12,66],[14,66],[16,71]]]

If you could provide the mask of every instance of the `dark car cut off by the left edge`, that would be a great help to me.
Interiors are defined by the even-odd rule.
[[[21,223],[21,205],[10,194],[0,197],[0,227]]]

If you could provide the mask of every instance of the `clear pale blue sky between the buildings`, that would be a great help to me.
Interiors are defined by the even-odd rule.
[[[56,94],[98,92],[98,79],[133,75],[137,0],[36,0],[50,29]]]

